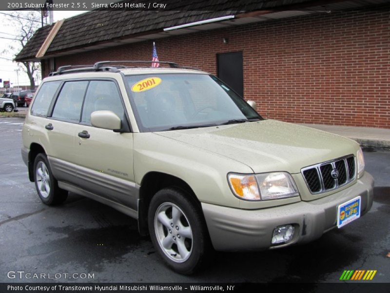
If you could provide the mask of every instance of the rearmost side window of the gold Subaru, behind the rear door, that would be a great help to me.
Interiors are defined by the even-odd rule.
[[[31,115],[46,117],[50,103],[56,93],[61,81],[46,82],[42,84],[39,92],[34,98],[34,103],[31,108]]]

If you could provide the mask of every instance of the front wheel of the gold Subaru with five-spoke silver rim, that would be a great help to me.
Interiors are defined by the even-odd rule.
[[[176,222],[174,208],[176,214],[180,214]],[[163,224],[159,214],[164,219],[165,215],[168,222]],[[198,203],[187,192],[179,188],[158,191],[149,205],[148,226],[153,245],[168,267],[175,272],[192,274],[210,261],[212,247],[204,216]],[[163,239],[168,239],[165,242],[166,248],[163,247]]]

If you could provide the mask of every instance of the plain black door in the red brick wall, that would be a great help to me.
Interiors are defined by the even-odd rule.
[[[218,77],[243,97],[242,52],[217,54],[217,66]]]

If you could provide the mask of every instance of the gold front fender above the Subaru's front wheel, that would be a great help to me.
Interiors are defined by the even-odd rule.
[[[253,173],[245,164],[155,133],[134,133],[134,170],[137,184],[156,171],[180,178],[204,203],[239,207],[226,175],[235,170]]]

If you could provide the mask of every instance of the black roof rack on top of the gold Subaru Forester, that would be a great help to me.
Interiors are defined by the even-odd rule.
[[[166,62],[166,61],[101,61],[97,62],[94,65],[65,65],[60,66],[57,71],[52,72],[49,76],[60,75],[64,73],[74,73],[74,72],[82,72],[82,71],[110,71],[110,72],[120,72],[119,68],[131,68],[125,65],[112,65],[107,66],[108,64],[113,63],[160,63],[160,64],[168,64],[171,68],[185,68],[185,69],[195,69],[200,70],[194,67],[182,67],[174,62]]]

